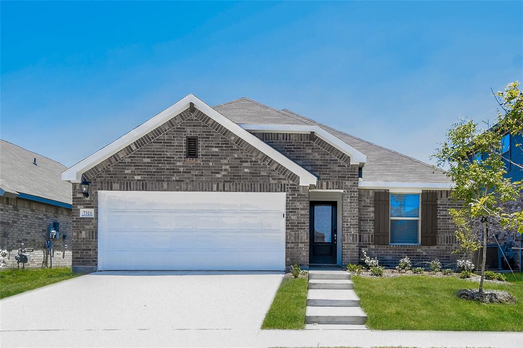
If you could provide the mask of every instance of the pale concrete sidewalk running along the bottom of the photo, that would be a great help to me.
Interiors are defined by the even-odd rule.
[[[139,320],[139,319],[138,319]],[[507,347],[523,333],[373,330],[70,330],[1,332],[2,347]]]

